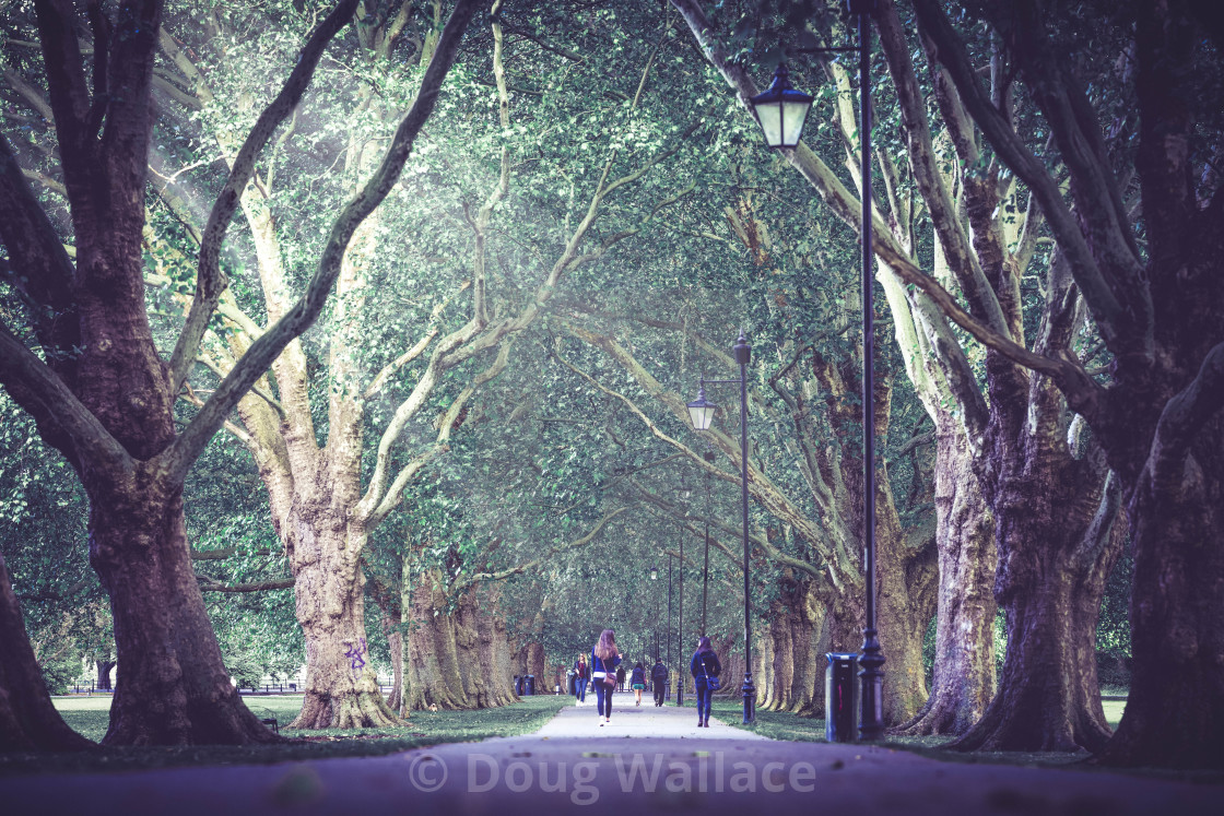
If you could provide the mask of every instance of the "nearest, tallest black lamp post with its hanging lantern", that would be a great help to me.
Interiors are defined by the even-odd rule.
[[[860,695],[859,733],[864,740],[878,740],[884,736],[884,650],[875,630],[875,305],[871,275],[871,12],[875,0],[846,0],[846,11],[858,17],[858,45],[848,48],[815,49],[814,53],[858,53],[859,81],[859,139],[862,142],[862,287],[863,287],[863,537],[867,553],[867,625],[863,629],[863,653],[859,664],[863,670]],[[798,92],[789,88],[788,72],[785,65],[778,65],[774,75],[774,84],[765,93],[753,97],[749,102],[753,115],[760,122],[765,141],[772,148],[793,148],[799,142],[803,128],[803,115],[798,115],[800,102]],[[775,88],[777,91],[775,91]],[[799,94],[805,95],[805,94]],[[807,97],[809,100],[810,97]],[[785,106],[789,99],[789,113]],[[810,106],[810,102],[808,103]],[[787,116],[789,116],[787,119]],[[775,122],[777,122],[775,125]],[[791,130],[793,130],[793,139]]]

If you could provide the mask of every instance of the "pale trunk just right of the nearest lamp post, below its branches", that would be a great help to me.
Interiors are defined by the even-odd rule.
[[[968,440],[952,417],[939,415],[935,459],[939,602],[935,672],[918,716],[892,733],[963,734],[995,692],[994,620],[998,604],[994,517],[968,461]]]

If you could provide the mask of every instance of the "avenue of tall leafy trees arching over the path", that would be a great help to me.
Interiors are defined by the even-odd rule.
[[[761,707],[823,716],[873,502],[891,733],[1217,767],[1224,24],[1064,5],[875,2],[868,497],[832,2],[2,4],[0,749],[88,747],[82,657],[106,745],[274,741],[230,678],[301,664],[301,729],[506,705],[603,625],[734,677],[684,404],[743,328]]]

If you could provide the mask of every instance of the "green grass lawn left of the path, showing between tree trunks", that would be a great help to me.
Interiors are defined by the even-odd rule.
[[[301,708],[296,696],[250,696],[242,699],[261,718],[275,717],[285,725]],[[479,711],[415,711],[401,728],[357,730],[311,730],[282,734],[289,741],[279,745],[229,746],[197,745],[187,747],[98,747],[83,754],[0,754],[0,774],[78,771],[120,771],[181,765],[250,765],[317,760],[339,756],[393,754],[421,745],[466,743],[490,736],[529,734],[567,705],[569,695],[524,697],[502,708]],[[92,740],[106,733],[110,697],[56,697],[55,707],[65,722]]]

